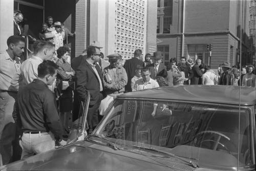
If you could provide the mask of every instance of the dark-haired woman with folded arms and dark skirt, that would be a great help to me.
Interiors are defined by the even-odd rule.
[[[59,47],[57,50],[58,60],[56,64],[59,66],[57,74],[59,96],[59,112],[60,121],[66,133],[69,132],[69,128],[72,126],[72,108],[73,108],[73,89],[72,85],[73,76],[75,71],[71,68],[71,65],[67,62],[69,56],[69,48]],[[65,133],[63,134],[65,135]]]

